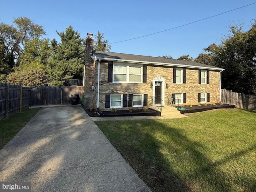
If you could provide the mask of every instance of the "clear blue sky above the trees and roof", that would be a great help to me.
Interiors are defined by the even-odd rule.
[[[187,55],[196,58],[204,47],[219,44],[229,34],[229,24],[244,23],[248,30],[256,19],[256,4],[194,24],[184,24],[233,10],[256,0],[0,0],[0,22],[27,16],[42,25],[49,39],[60,41],[58,32],[72,26],[86,38],[87,32],[104,33],[111,52],[146,56]],[[173,30],[168,30],[175,28]],[[167,30],[158,34],[136,38]]]

